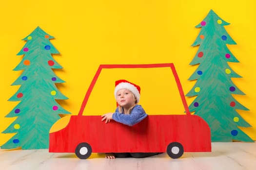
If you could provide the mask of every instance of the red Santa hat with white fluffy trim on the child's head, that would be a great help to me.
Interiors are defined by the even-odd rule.
[[[139,101],[139,97],[140,97],[140,87],[138,85],[135,85],[131,82],[128,82],[127,80],[118,80],[116,81],[116,87],[115,87],[115,98],[117,99],[117,92],[118,90],[125,88],[127,90],[130,90],[134,96],[137,99],[137,102]]]

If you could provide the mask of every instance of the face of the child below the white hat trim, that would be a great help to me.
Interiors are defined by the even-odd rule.
[[[130,90],[127,89],[120,89],[117,92],[117,102],[119,106],[122,107],[132,107],[135,104],[135,97]]]

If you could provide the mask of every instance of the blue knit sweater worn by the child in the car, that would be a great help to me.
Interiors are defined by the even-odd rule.
[[[132,126],[141,120],[145,119],[148,115],[145,113],[141,105],[135,105],[130,114],[124,114],[118,112],[118,107],[112,116],[112,119],[118,121],[119,123]]]

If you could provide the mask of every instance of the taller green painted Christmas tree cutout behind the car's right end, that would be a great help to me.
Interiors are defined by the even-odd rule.
[[[212,141],[253,140],[239,127],[251,127],[239,114],[249,110],[237,102],[233,94],[244,95],[231,78],[241,78],[229,67],[228,62],[239,62],[227,48],[236,42],[226,32],[229,25],[210,10],[196,28],[201,28],[192,46],[199,46],[190,65],[198,65],[189,80],[197,80],[186,96],[197,96],[189,109],[207,121]]]

